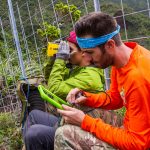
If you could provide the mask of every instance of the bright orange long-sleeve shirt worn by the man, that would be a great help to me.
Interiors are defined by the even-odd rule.
[[[81,127],[118,149],[144,150],[150,148],[150,51],[134,42],[125,44],[133,51],[127,65],[120,69],[112,67],[108,95],[85,92],[87,106],[104,109],[125,106],[124,129],[88,115]]]

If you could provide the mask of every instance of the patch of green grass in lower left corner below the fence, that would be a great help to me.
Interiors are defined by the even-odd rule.
[[[16,114],[0,114],[0,149],[20,150],[22,147],[21,129]]]

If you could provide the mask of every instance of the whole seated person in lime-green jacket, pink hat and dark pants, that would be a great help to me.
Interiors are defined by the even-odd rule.
[[[49,74],[49,91],[64,100],[69,91],[75,87],[93,93],[103,91],[103,70],[94,67],[89,54],[80,50],[74,31],[70,33],[67,41],[68,43],[60,42],[56,59],[51,58],[45,66],[45,73]],[[87,111],[89,108],[83,109]],[[55,115],[40,110],[32,110],[27,117],[23,130],[26,149],[53,149],[55,131],[59,120],[59,117]]]

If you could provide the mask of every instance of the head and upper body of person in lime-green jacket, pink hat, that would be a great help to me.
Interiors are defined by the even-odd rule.
[[[103,70],[91,64],[91,57],[80,50],[74,38],[75,33],[73,31],[67,38],[70,48],[66,47],[63,52],[56,54],[56,60],[51,71],[47,68],[49,72],[47,74],[50,74],[48,89],[62,99],[66,99],[67,94],[74,87],[92,93],[103,90]],[[65,43],[63,44],[66,46]],[[73,65],[66,67],[69,54],[69,62]]]

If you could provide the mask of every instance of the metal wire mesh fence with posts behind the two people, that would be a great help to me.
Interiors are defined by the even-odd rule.
[[[20,108],[17,80],[43,74],[47,43],[65,38],[79,17],[92,11],[113,15],[123,41],[150,49],[150,0],[1,0],[0,112]],[[105,77],[108,88],[107,70]]]

